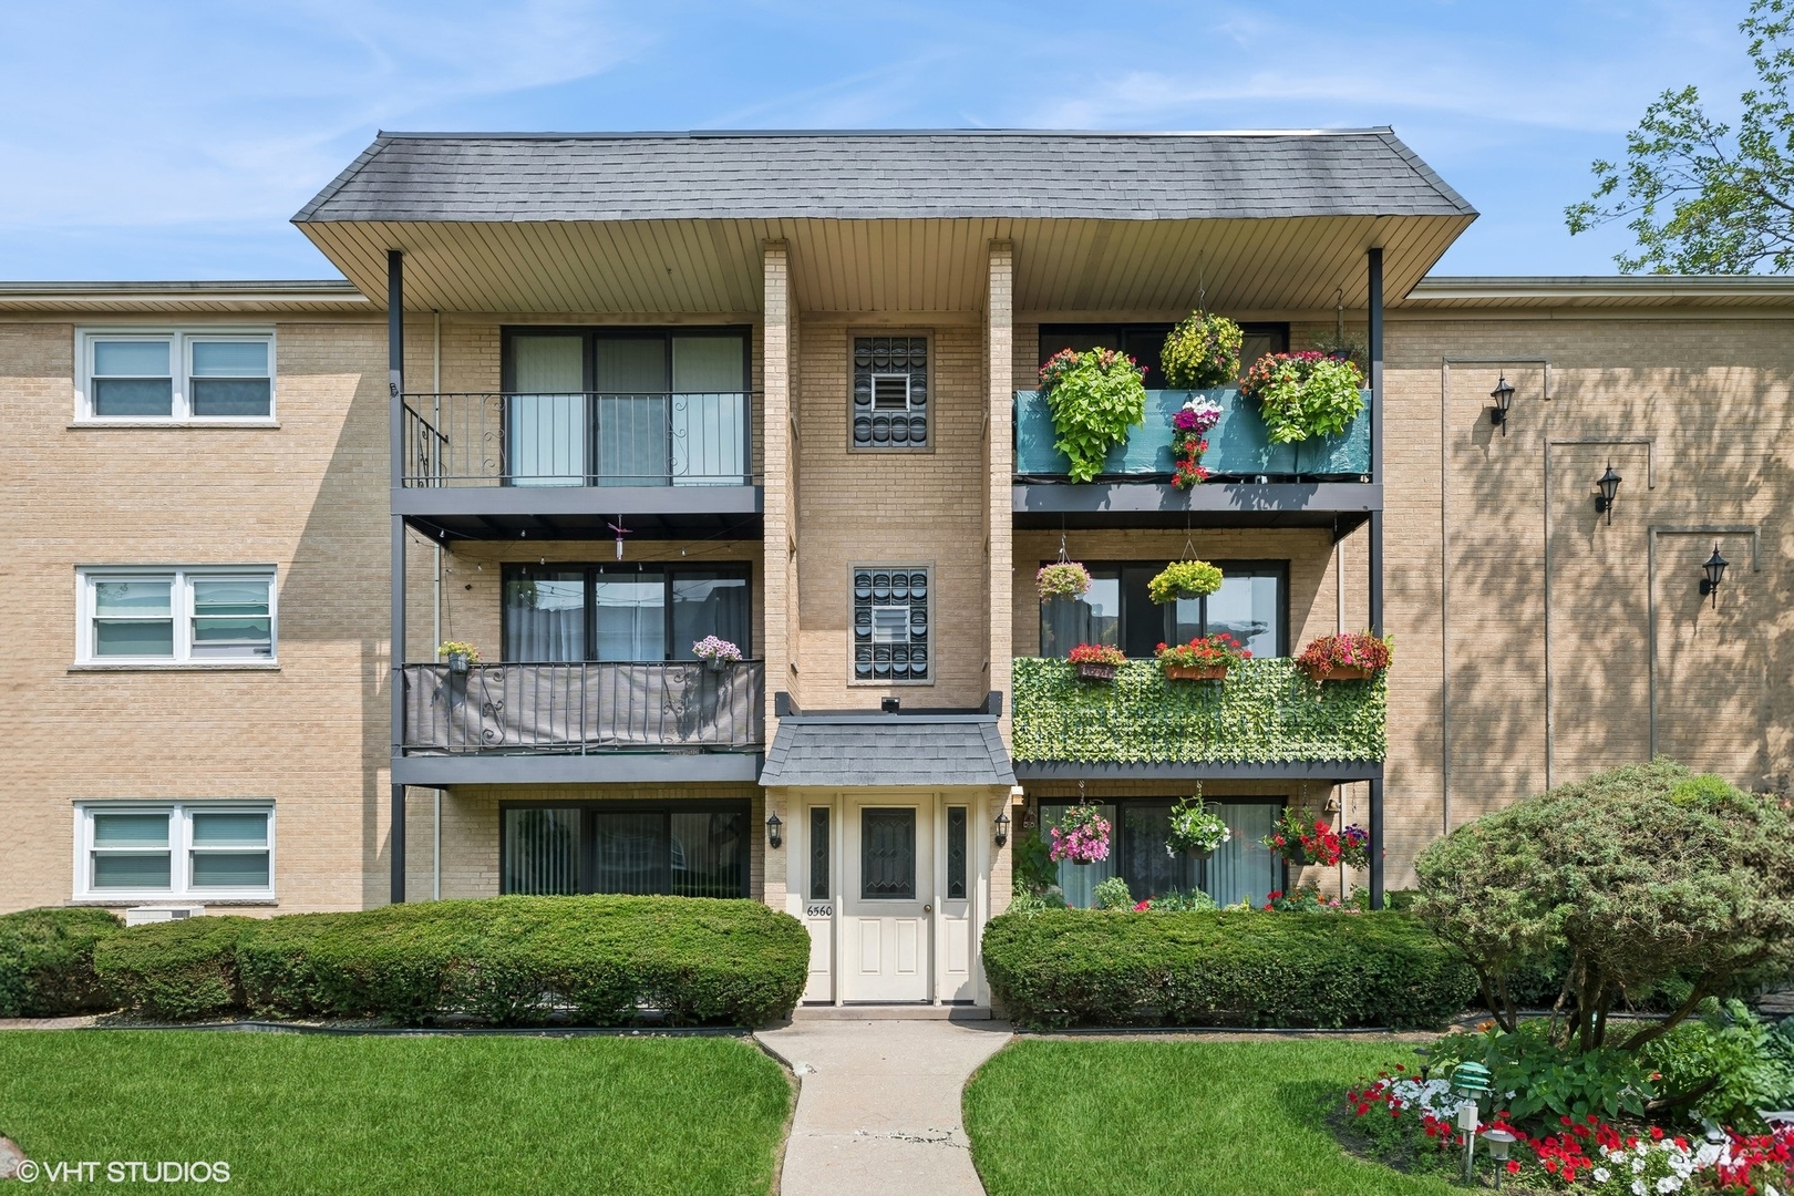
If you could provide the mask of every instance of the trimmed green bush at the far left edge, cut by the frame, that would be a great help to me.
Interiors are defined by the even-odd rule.
[[[109,1010],[93,945],[122,929],[109,911],[81,906],[0,916],[0,1017]]]

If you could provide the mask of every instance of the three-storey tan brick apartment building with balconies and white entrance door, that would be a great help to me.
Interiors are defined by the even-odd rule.
[[[746,895],[809,1001],[985,1004],[1015,837],[1080,796],[1073,900],[1258,902],[1380,900],[1654,753],[1787,789],[1794,287],[1430,276],[1473,219],[1389,129],[382,134],[294,217],[346,282],[0,287],[0,909]],[[1249,357],[1362,337],[1363,412],[1274,446],[1222,391],[1182,491],[1152,389],[1069,482],[1039,364],[1155,387],[1198,305]],[[1224,588],[1146,601],[1188,554]],[[1365,628],[1349,742],[1292,685],[1119,744],[1041,663]],[[1232,839],[1173,859],[1198,785]],[[1288,875],[1290,805],[1376,864]]]

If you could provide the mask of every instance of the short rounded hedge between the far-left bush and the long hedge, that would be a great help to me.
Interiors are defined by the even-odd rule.
[[[219,1017],[244,1004],[237,945],[262,925],[237,916],[135,925],[100,943],[93,966],[108,990],[149,1017]]]

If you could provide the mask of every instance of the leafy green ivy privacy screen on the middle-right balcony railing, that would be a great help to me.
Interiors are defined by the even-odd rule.
[[[1015,758],[1085,764],[1272,764],[1381,760],[1385,676],[1310,681],[1286,656],[1247,660],[1220,685],[1166,681],[1130,660],[1112,683],[1080,681],[1064,660],[1014,663]]]

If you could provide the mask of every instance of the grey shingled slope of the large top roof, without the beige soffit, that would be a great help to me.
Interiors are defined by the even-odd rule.
[[[1389,127],[380,133],[312,221],[1475,215]]]

